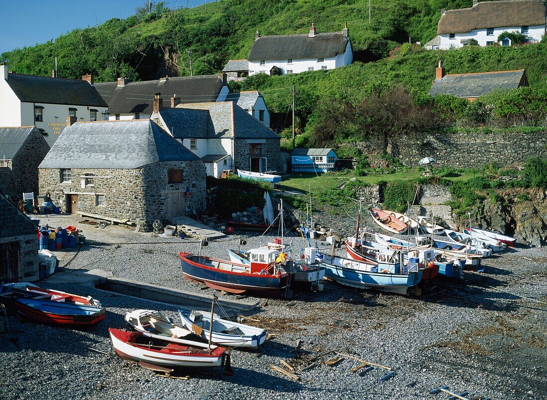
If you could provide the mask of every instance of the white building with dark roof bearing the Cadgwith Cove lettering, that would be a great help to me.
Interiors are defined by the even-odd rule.
[[[49,146],[66,127],[68,116],[77,121],[100,121],[108,105],[93,85],[82,80],[8,73],[0,65],[0,126],[36,126]]]

